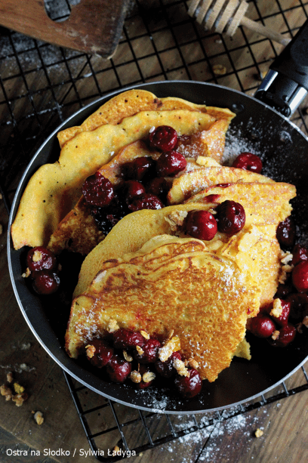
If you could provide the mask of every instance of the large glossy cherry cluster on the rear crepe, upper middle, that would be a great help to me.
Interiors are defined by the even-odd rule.
[[[170,188],[165,177],[175,176],[186,167],[185,157],[174,150],[178,135],[171,127],[159,126],[150,131],[147,142],[149,148],[161,151],[157,161],[141,156],[124,163],[117,185],[99,171],[83,184],[85,201],[105,235],[129,212],[164,207]]]

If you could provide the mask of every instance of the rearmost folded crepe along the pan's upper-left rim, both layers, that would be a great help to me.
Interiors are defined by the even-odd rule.
[[[234,113],[176,98],[161,104],[148,92],[130,92],[105,103],[79,128],[59,134],[59,159],[38,168],[23,193],[11,227],[15,249],[46,246],[78,202],[85,179],[123,147],[146,137],[152,127],[171,126],[180,136],[198,133],[195,142],[207,147],[207,155],[222,156],[225,132]],[[144,105],[145,100],[152,103]]]

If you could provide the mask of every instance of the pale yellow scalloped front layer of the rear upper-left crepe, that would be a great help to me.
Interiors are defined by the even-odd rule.
[[[47,245],[60,221],[77,203],[85,179],[151,127],[168,125],[179,135],[209,130],[215,118],[197,111],[143,111],[120,124],[81,132],[65,143],[59,161],[41,166],[31,177],[11,228],[15,249]]]

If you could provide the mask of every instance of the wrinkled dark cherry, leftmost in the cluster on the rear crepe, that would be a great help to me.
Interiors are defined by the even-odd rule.
[[[87,178],[82,193],[87,203],[99,207],[107,206],[114,197],[112,183],[99,171]]]

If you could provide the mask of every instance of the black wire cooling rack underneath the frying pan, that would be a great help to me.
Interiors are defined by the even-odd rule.
[[[78,0],[45,0],[55,21],[69,15]],[[308,14],[302,0],[248,0],[246,15],[293,37]],[[1,190],[10,201],[36,149],[76,110],[125,85],[159,80],[215,82],[253,95],[282,46],[239,27],[233,38],[205,31],[188,16],[184,0],[133,0],[117,51],[110,60],[88,56],[0,28]],[[292,116],[307,134],[307,101]],[[141,451],[205,429],[308,389],[305,368],[271,393],[221,412],[175,415],[142,412],[97,397],[64,373],[91,449],[107,439],[125,450]],[[294,385],[296,384],[296,385]],[[104,414],[103,431],[95,417]],[[133,426],[133,441],[126,431]],[[121,456],[101,459],[116,461]]]

